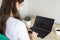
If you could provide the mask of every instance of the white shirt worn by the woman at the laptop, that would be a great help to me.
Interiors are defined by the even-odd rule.
[[[14,17],[8,18],[5,34],[10,40],[30,40],[24,22],[15,19]]]

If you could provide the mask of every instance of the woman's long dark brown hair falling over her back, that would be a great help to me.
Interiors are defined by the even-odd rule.
[[[13,13],[13,17],[21,20],[20,14],[16,8],[16,2],[22,3],[24,0],[2,0],[2,5],[0,8],[0,33],[5,35],[6,31],[6,21]]]

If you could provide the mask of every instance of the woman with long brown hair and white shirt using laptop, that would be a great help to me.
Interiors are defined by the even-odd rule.
[[[6,35],[10,40],[30,40],[25,24],[21,21],[18,12],[24,0],[2,0],[0,8],[0,34]],[[36,33],[31,39],[36,39]]]

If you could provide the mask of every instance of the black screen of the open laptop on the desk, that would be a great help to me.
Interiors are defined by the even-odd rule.
[[[34,26],[40,29],[51,31],[54,19],[36,16]]]

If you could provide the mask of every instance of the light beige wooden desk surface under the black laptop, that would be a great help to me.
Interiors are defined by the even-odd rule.
[[[35,21],[35,18],[32,18],[30,27],[33,26],[34,21]],[[55,33],[55,28],[56,27],[60,27],[60,25],[59,24],[54,24],[53,28],[52,28],[52,31],[49,35],[47,35],[44,39],[37,37],[37,40],[60,40],[60,36],[57,36],[56,33]]]

